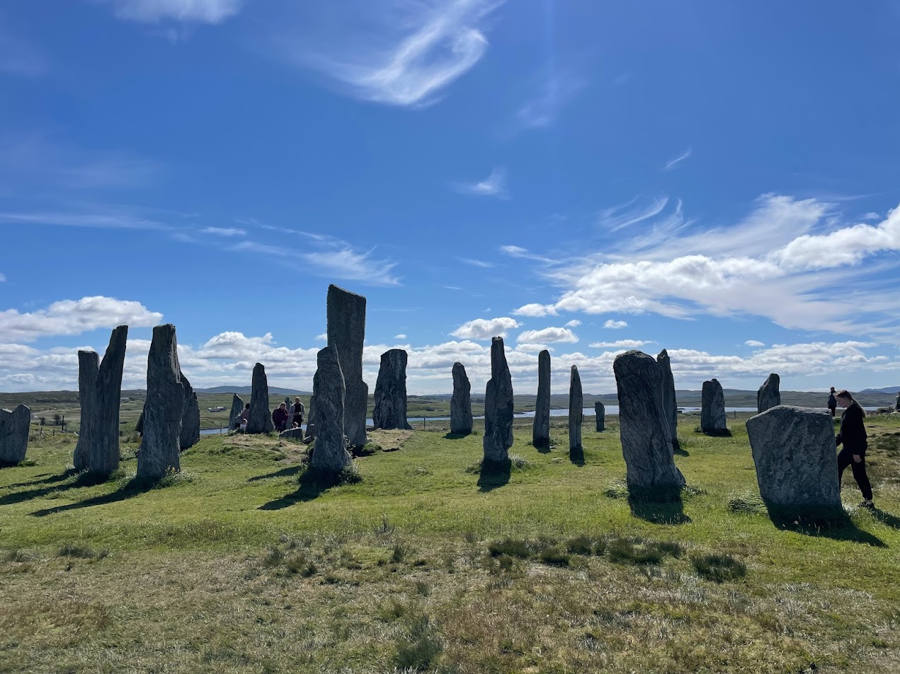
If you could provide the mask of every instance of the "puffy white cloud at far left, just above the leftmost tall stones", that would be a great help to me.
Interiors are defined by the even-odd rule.
[[[139,302],[114,297],[82,297],[54,302],[46,309],[20,314],[0,312],[0,341],[34,341],[40,337],[89,333],[116,325],[155,325],[163,315]]]

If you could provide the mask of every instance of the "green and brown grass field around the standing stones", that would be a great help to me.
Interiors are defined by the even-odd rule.
[[[0,470],[0,672],[900,671],[900,421],[869,417],[879,510],[770,519],[743,421],[681,418],[682,501],[629,502],[616,419],[584,456],[516,431],[372,433],[362,480],[306,448],[208,436],[137,487],[67,473],[75,438]],[[395,448],[399,448],[395,450]]]

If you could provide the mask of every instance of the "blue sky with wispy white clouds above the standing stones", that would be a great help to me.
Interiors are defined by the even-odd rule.
[[[0,390],[177,327],[196,386],[309,390],[337,283],[366,377],[552,349],[615,390],[900,382],[892,2],[46,0],[0,7]]]

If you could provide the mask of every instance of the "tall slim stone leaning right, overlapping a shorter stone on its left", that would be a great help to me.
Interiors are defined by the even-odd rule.
[[[127,343],[128,325],[120,325],[112,331],[110,343],[100,361],[94,412],[88,420],[91,425],[91,450],[87,470],[91,474],[106,476],[119,468],[119,406]]]

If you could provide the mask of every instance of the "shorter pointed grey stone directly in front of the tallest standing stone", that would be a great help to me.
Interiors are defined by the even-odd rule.
[[[312,383],[312,395],[316,396],[316,448],[310,466],[327,473],[340,473],[351,459],[344,434],[347,388],[337,347],[330,344],[320,350],[316,362],[318,369]]]

